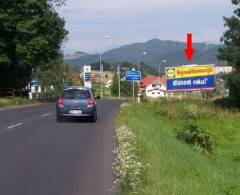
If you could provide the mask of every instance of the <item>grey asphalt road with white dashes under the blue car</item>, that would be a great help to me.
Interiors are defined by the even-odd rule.
[[[54,104],[0,109],[0,195],[113,194],[120,103],[99,101],[96,123],[56,123]]]

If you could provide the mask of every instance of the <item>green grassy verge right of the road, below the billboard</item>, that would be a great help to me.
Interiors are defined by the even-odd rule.
[[[240,194],[240,114],[216,110],[211,102],[190,105],[197,107],[198,125],[211,133],[210,154],[177,139],[176,129],[184,127],[189,102],[159,101],[121,108],[117,126],[134,130],[141,143],[138,156],[150,164],[134,193]],[[131,189],[124,192],[131,193]]]

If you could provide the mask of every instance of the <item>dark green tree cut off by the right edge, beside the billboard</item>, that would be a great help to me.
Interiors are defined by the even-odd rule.
[[[240,0],[232,0],[232,3],[240,5]],[[221,38],[225,47],[219,50],[218,58],[228,61],[240,73],[240,8],[238,7],[234,11],[234,16],[224,17],[224,21],[224,26],[228,27],[228,30],[224,32]]]

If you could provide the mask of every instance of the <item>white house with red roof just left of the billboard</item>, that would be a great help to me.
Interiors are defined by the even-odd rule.
[[[148,76],[140,82],[140,88],[147,97],[158,98],[167,96],[167,80],[164,77]]]

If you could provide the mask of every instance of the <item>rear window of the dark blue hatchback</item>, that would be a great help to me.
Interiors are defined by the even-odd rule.
[[[90,97],[87,89],[66,89],[62,93],[62,98],[88,99]]]

